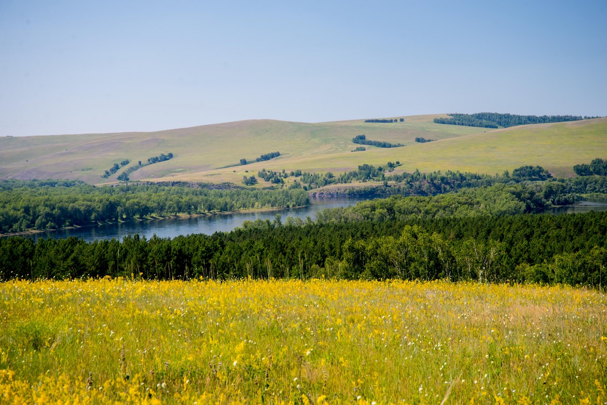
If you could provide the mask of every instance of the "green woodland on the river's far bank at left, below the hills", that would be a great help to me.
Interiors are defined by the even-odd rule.
[[[95,187],[80,181],[0,182],[0,232],[86,226],[148,215],[305,206],[303,190],[129,184]]]

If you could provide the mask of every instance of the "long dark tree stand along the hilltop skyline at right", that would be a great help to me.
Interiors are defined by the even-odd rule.
[[[546,124],[551,122],[579,121],[582,116],[575,115],[516,115],[500,113],[448,114],[451,118],[435,118],[436,124],[461,125],[468,127],[498,128],[527,124]]]

